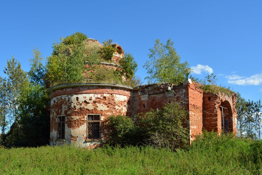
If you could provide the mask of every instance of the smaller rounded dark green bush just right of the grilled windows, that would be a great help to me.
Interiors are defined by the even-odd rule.
[[[138,128],[129,116],[111,115],[105,121],[111,129],[107,140],[110,145],[136,145]]]

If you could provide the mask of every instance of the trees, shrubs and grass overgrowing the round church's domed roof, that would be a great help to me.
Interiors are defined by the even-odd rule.
[[[134,75],[137,63],[129,53],[120,60],[117,70],[99,65],[101,61],[113,62],[116,46],[112,39],[101,45],[80,32],[60,38],[60,43],[53,44],[52,55],[47,57],[46,84],[50,87],[80,82],[140,85],[141,81]]]

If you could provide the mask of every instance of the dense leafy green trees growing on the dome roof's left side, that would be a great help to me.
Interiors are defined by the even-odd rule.
[[[52,86],[59,83],[82,82],[84,72],[85,46],[87,37],[76,32],[59,44],[53,44],[53,53],[47,58],[47,81]]]

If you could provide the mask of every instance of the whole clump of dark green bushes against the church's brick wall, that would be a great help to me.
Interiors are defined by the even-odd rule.
[[[186,125],[186,111],[177,102],[172,101],[161,110],[151,110],[136,116],[133,121],[128,116],[110,116],[107,126],[108,142],[112,145],[149,144],[172,150],[188,144],[189,134]],[[111,141],[112,140],[112,141]]]

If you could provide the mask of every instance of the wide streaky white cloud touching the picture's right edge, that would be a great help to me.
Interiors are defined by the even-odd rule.
[[[262,84],[262,72],[252,75],[250,77],[241,77],[238,75],[226,76],[228,83],[236,85],[261,85]]]

